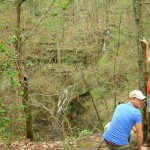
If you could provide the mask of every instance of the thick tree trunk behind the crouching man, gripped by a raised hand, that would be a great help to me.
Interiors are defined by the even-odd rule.
[[[136,28],[137,28],[137,50],[138,50],[138,67],[139,67],[139,89],[143,93],[147,93],[146,88],[146,81],[147,81],[147,75],[146,75],[146,62],[145,62],[145,56],[146,53],[144,50],[142,50],[142,47],[140,45],[139,39],[143,37],[143,28],[142,28],[142,15],[141,15],[141,0],[133,0],[133,9],[134,9],[134,15],[135,15],[135,22],[136,22]],[[147,114],[146,114],[147,104],[146,101],[143,103],[143,133],[144,133],[144,140],[147,138]]]

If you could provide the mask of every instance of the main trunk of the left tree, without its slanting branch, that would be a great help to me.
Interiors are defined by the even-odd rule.
[[[23,98],[22,104],[24,106],[24,113],[26,117],[26,136],[29,139],[33,139],[33,132],[32,132],[32,116],[31,116],[31,109],[29,108],[28,103],[28,82],[27,78],[23,75],[23,65],[22,65],[22,51],[21,51],[21,27],[20,27],[20,15],[21,15],[21,4],[25,0],[17,0],[16,1],[16,13],[17,13],[17,27],[16,27],[16,43],[15,43],[15,50],[17,53],[17,61],[16,67],[19,72],[19,82],[21,85],[21,90],[23,91]]]

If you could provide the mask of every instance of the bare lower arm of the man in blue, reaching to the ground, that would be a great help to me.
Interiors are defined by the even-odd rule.
[[[135,124],[135,128],[137,136],[137,150],[142,150],[142,143],[143,143],[142,123]]]

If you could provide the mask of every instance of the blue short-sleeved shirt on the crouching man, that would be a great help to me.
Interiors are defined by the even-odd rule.
[[[142,123],[140,110],[131,103],[120,104],[116,107],[103,138],[121,146],[125,145],[128,143],[131,129],[136,123]]]

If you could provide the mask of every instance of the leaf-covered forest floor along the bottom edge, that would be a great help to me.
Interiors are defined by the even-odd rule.
[[[100,144],[101,141],[102,138],[99,133],[89,135],[83,140],[69,143],[65,141],[31,142],[30,140],[22,139],[14,142],[0,141],[0,150],[108,150],[104,142],[102,145]],[[143,150],[150,150],[150,148],[143,147]]]

